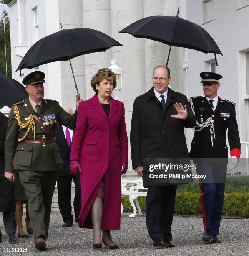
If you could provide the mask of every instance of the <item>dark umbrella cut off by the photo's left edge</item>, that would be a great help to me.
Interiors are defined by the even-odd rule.
[[[25,100],[28,92],[24,86],[11,77],[0,74],[0,108],[11,106],[17,102]]]

